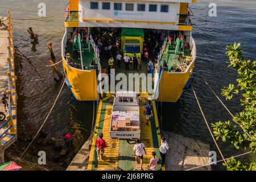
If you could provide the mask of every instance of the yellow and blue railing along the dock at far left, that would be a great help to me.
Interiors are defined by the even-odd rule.
[[[4,13],[6,12],[6,13]],[[14,44],[13,44],[13,26],[12,26],[12,22],[11,22],[11,13],[10,11],[0,11],[1,16],[3,14],[5,14],[6,18],[8,18],[8,36],[7,36],[7,40],[8,40],[8,46],[7,46],[7,50],[8,50],[8,57],[7,57],[7,61],[8,61],[8,72],[7,72],[7,77],[8,77],[8,90],[6,91],[6,93],[9,96],[9,115],[7,115],[6,117],[6,121],[3,122],[3,124],[0,126],[0,130],[3,129],[3,127],[8,126],[7,129],[5,129],[5,131],[3,131],[3,133],[0,133],[0,139],[6,134],[16,134],[16,128],[14,126],[14,121],[13,121],[13,114],[12,114],[12,110],[14,107],[16,107],[16,101],[14,102],[14,97],[16,96],[16,92],[12,93],[11,90],[12,88],[15,86],[15,82],[13,81],[13,79],[15,79],[15,75],[14,75],[14,65],[12,60],[14,60]],[[14,76],[14,77],[13,77]],[[10,130],[10,132],[9,132]],[[0,147],[2,146],[2,143],[0,142]]]

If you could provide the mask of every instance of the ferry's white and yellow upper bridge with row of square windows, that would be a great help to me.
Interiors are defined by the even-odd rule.
[[[66,27],[133,27],[191,31],[196,0],[70,0]]]

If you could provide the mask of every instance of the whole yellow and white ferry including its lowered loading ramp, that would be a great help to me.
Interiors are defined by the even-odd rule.
[[[196,0],[69,1],[65,9],[61,52],[66,84],[77,100],[93,101],[94,104],[97,101],[87,170],[139,169],[139,164],[131,156],[134,142],[110,136],[113,130],[112,93],[118,90],[102,94],[97,88],[100,73],[109,74],[113,68],[115,75],[152,74],[152,93],[141,90],[138,99],[139,138],[147,151],[143,169],[147,168],[151,152],[160,157],[160,129],[155,101],[179,100],[189,85],[196,59],[190,3],[196,3]],[[118,57],[122,57],[121,60],[125,57],[125,61],[117,62]],[[148,100],[152,101],[154,114],[147,126],[143,110]],[[96,139],[101,133],[108,144],[103,160],[97,159],[96,151]],[[157,170],[164,169],[158,163]]]

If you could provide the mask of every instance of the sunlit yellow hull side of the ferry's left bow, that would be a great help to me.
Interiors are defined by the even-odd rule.
[[[71,90],[77,100],[97,100],[97,75],[95,69],[82,71],[80,69],[70,67],[64,60],[63,67],[68,81],[72,86]]]

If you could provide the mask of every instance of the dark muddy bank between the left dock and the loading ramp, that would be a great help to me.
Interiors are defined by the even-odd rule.
[[[22,127],[20,127],[22,126]],[[31,142],[34,135],[25,130],[26,126],[18,125],[18,141],[13,144],[10,148],[5,151],[5,162],[14,160],[18,165],[23,167],[23,170],[44,170],[39,167],[35,167],[32,164],[16,160],[13,156],[18,157],[26,149],[28,144]],[[24,126],[24,127],[23,127]],[[23,129],[23,131],[22,131]],[[76,152],[78,151],[79,146],[77,146],[76,139],[74,138],[73,144],[71,147],[67,147],[64,140],[56,140],[55,138],[48,138],[47,134],[40,132],[38,137],[34,140],[31,147],[28,149],[26,154],[23,156],[24,160],[28,162],[38,164],[38,152],[46,152],[46,165],[42,167],[49,170],[64,171],[69,163],[71,163]]]

